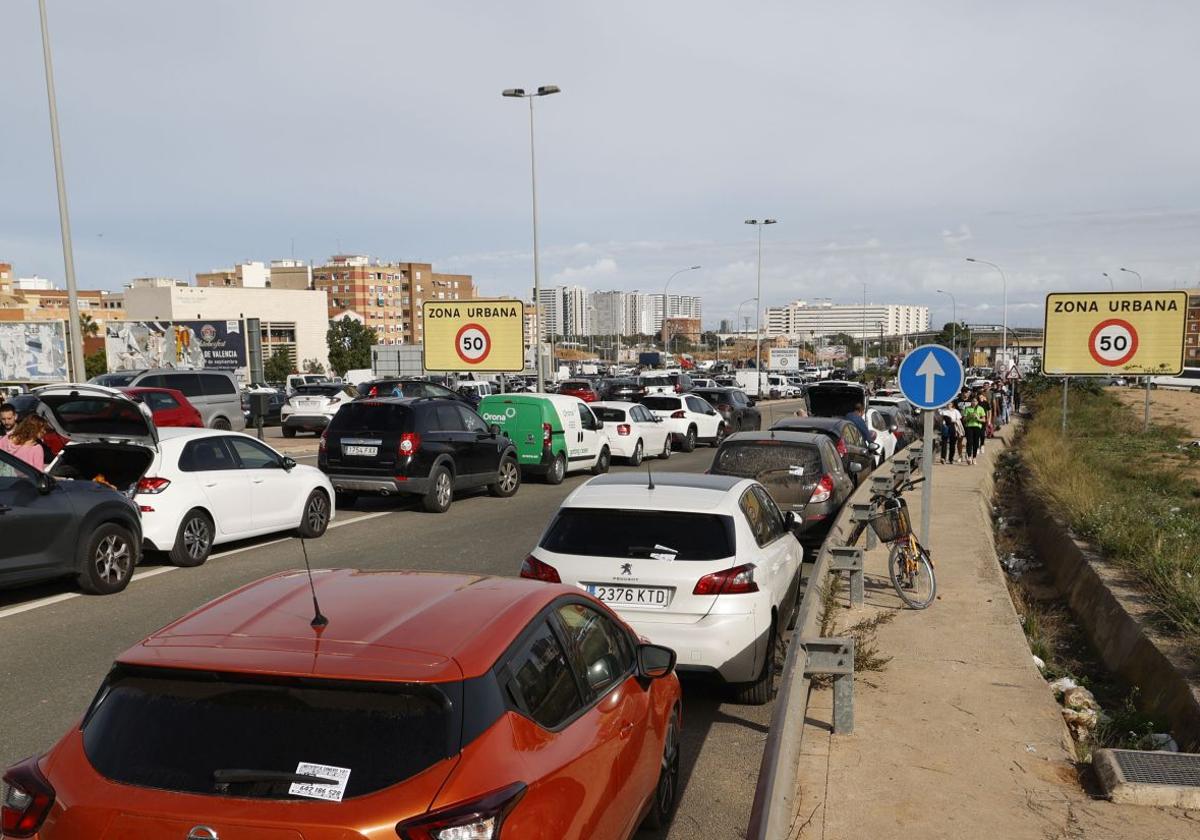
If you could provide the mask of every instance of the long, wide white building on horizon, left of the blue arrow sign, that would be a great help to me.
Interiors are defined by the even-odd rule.
[[[856,338],[907,335],[929,329],[929,307],[901,304],[809,304],[796,300],[787,306],[768,306],[764,332],[768,336],[811,338],[846,334]]]

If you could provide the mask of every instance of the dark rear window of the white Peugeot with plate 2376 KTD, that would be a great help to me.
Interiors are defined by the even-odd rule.
[[[668,510],[563,508],[541,547],[559,554],[718,560],[732,557],[733,518]]]

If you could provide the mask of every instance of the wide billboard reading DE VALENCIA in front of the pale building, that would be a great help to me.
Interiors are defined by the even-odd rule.
[[[246,371],[240,320],[113,320],[104,325],[108,371],[148,367]]]

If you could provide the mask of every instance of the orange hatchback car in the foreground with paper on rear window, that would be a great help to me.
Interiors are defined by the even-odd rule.
[[[5,773],[4,836],[606,840],[670,820],[674,652],[572,587],[313,582],[251,583],[125,652],[79,725]]]

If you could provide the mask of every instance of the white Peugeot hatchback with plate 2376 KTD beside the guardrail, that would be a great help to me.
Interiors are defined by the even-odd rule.
[[[680,671],[716,673],[761,704],[799,604],[791,526],[752,479],[601,475],[566,497],[521,576],[586,589],[673,648]]]

